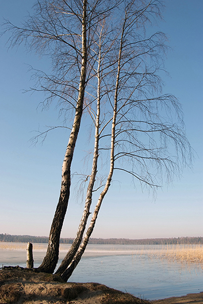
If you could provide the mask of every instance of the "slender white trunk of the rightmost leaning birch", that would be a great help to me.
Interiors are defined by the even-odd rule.
[[[120,48],[119,48],[119,54],[118,54],[118,68],[117,68],[117,77],[116,77],[116,85],[115,85],[115,95],[114,95],[114,108],[113,108],[113,119],[112,119],[112,126],[111,126],[111,153],[110,153],[110,170],[109,174],[106,180],[106,184],[104,187],[104,190],[101,192],[97,205],[95,207],[90,225],[88,227],[87,233],[83,239],[82,244],[79,246],[79,249],[77,250],[72,262],[69,264],[68,268],[63,272],[61,275],[61,278],[64,281],[67,281],[70,276],[72,275],[74,269],[76,268],[78,262],[82,258],[82,255],[88,245],[89,239],[92,235],[92,232],[94,230],[96,220],[98,217],[98,213],[102,204],[102,201],[108,192],[108,188],[110,186],[112,176],[113,176],[113,169],[114,169],[114,148],[115,148],[115,126],[116,126],[116,116],[117,116],[117,97],[118,97],[118,87],[119,87],[119,78],[120,78],[120,59],[121,59],[121,52],[123,49],[123,37],[124,37],[124,31],[125,31],[125,23],[126,20],[124,21],[123,25],[123,31],[121,33],[121,38],[120,38]]]

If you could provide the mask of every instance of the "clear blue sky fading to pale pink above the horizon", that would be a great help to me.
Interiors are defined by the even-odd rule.
[[[0,14],[18,24],[31,12],[33,0],[0,0]],[[196,151],[193,169],[185,169],[173,186],[157,192],[157,199],[135,189],[130,179],[120,176],[112,183],[103,202],[95,238],[158,238],[203,236],[203,1],[167,0],[165,21],[158,30],[169,36],[172,51],[166,58],[170,77],[164,93],[174,94],[182,103],[187,137]],[[56,130],[43,145],[31,146],[34,130],[59,125],[54,106],[37,108],[43,95],[23,94],[33,85],[28,65],[43,69],[49,64],[23,46],[7,50],[8,36],[0,40],[0,233],[48,236],[58,202],[61,166],[68,132]],[[76,146],[72,172],[77,162]],[[74,185],[73,185],[74,187]],[[73,190],[62,237],[74,237],[83,212]]]

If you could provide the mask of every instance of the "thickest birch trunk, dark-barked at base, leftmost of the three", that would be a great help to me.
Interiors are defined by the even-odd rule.
[[[66,214],[69,195],[70,195],[70,167],[71,167],[77,135],[79,132],[80,122],[83,114],[83,103],[84,103],[84,94],[85,94],[85,86],[86,86],[86,69],[87,69],[86,11],[87,11],[87,0],[84,0],[83,21],[82,21],[83,55],[82,55],[82,67],[80,70],[80,82],[79,82],[75,117],[74,117],[74,122],[72,125],[72,130],[69,136],[69,141],[62,165],[61,192],[50,230],[48,249],[42,264],[38,268],[40,271],[47,273],[53,273],[58,262],[60,234],[61,234],[61,229]]]

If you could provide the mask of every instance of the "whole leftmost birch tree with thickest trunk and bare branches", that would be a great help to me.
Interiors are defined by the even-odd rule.
[[[110,14],[114,5],[116,1],[110,5],[110,1],[99,0],[42,0],[36,2],[33,16],[29,16],[22,27],[9,21],[5,24],[6,31],[12,32],[11,47],[24,42],[28,50],[48,54],[52,60],[53,74],[44,71],[34,74],[36,86],[32,90],[47,94],[43,106],[49,107],[54,99],[58,99],[58,106],[65,108],[65,115],[72,114],[59,201],[40,271],[53,273],[58,262],[60,233],[70,195],[72,157],[84,110],[85,89],[95,63],[92,44],[95,43],[98,23]],[[48,131],[54,128],[57,127]],[[48,131],[39,136],[45,138]]]

